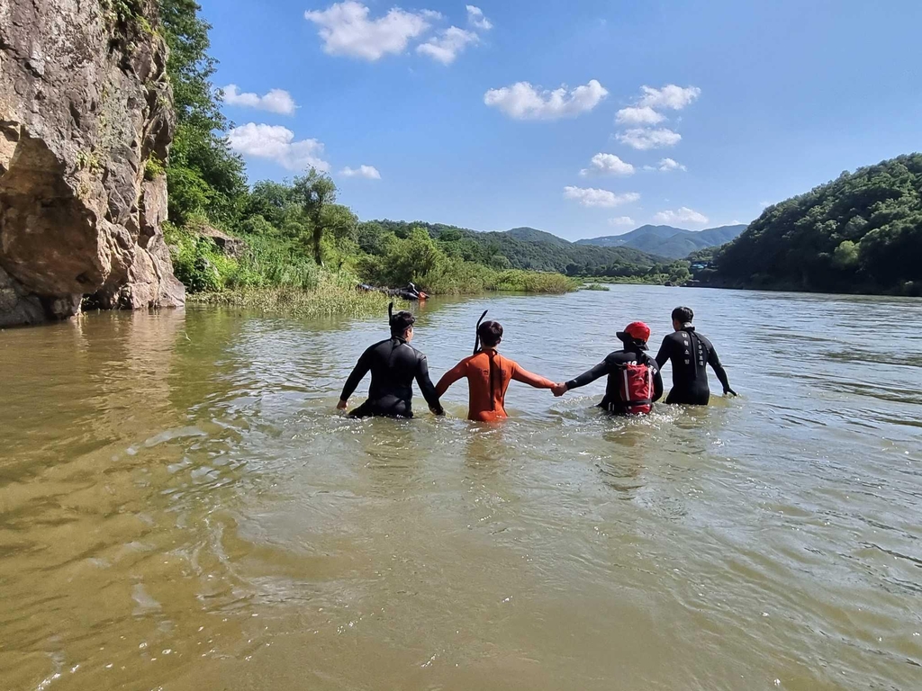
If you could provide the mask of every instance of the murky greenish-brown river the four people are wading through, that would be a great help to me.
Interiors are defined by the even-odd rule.
[[[433,301],[414,345],[437,378],[489,308],[566,380],[680,303],[741,397],[642,420],[337,416],[384,315],[0,332],[0,689],[922,688],[922,302]]]

